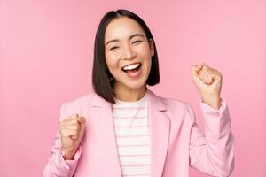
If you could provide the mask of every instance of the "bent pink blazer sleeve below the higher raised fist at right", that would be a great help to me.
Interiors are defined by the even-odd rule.
[[[189,106],[192,118],[190,139],[190,165],[212,176],[229,176],[234,168],[234,141],[231,134],[231,118],[226,104],[215,110],[200,103],[204,118],[204,133],[200,131],[192,106]]]

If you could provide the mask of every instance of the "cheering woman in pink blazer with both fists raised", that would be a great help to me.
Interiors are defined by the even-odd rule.
[[[192,66],[204,134],[189,104],[146,87],[159,81],[156,46],[145,22],[126,10],[106,13],[95,39],[95,93],[62,105],[43,176],[186,177],[189,166],[229,176],[233,137],[220,97],[221,73],[204,64]]]

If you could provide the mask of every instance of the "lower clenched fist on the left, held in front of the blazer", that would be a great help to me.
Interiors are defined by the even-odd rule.
[[[74,158],[74,154],[82,142],[85,121],[84,117],[73,114],[59,123],[60,140],[66,159]]]

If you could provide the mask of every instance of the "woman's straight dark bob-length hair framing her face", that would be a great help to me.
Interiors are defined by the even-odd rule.
[[[93,60],[93,68],[92,68],[92,85],[94,91],[106,101],[115,104],[113,99],[113,76],[109,72],[108,67],[106,65],[106,53],[105,53],[105,34],[107,25],[118,17],[128,17],[130,19],[134,19],[137,23],[144,29],[145,35],[148,40],[153,40],[153,35],[145,24],[145,21],[137,16],[137,14],[133,12],[129,12],[128,10],[117,10],[116,12],[110,11],[107,12],[106,15],[101,19],[97,34],[94,42],[94,60]],[[145,84],[153,86],[160,82],[160,73],[159,73],[159,62],[158,55],[155,46],[155,42],[153,40],[154,46],[154,55],[152,57],[152,66],[149,76],[145,82]]]

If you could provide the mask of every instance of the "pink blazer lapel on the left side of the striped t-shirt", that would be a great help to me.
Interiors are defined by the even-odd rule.
[[[90,116],[93,130],[98,139],[99,156],[103,157],[109,176],[113,177],[121,176],[121,165],[118,158],[111,105],[95,94],[92,99]]]

